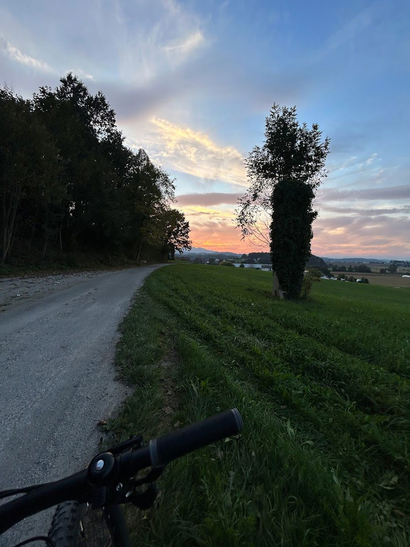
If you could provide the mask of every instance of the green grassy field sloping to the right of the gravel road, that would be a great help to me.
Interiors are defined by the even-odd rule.
[[[410,292],[270,289],[256,270],[173,265],[137,296],[116,436],[234,406],[245,427],[168,466],[159,508],[132,517],[136,545],[409,545]]]

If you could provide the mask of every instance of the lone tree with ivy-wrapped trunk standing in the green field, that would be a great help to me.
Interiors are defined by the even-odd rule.
[[[296,107],[274,104],[266,118],[265,143],[256,146],[245,161],[250,186],[238,200],[237,227],[242,238],[253,241],[261,241],[261,234],[266,239],[268,233],[276,296],[298,298],[301,294],[311,254],[312,222],[318,214],[312,203],[327,174],[329,143],[329,138],[321,142],[317,124],[311,129],[298,124]]]

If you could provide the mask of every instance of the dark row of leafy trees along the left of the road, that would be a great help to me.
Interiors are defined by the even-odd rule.
[[[97,253],[137,263],[191,248],[175,185],[124,145],[101,91],[72,73],[25,99],[0,88],[0,260]]]

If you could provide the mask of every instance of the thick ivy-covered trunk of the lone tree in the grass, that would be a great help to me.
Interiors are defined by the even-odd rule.
[[[298,298],[311,254],[314,191],[295,179],[279,181],[272,191],[271,254],[273,295]]]

